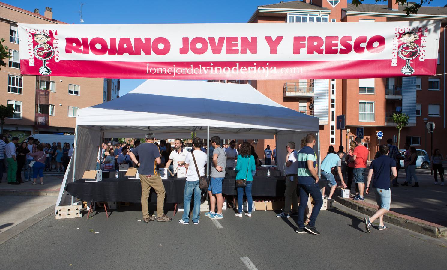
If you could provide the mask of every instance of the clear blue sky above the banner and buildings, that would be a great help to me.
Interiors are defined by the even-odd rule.
[[[169,1],[118,1],[118,0],[2,0],[7,4],[33,11],[45,7],[53,9],[53,18],[67,23],[80,23],[80,4],[85,24],[137,24],[137,23],[245,23],[258,5],[279,3],[279,0],[169,0]],[[284,0],[287,2],[287,0]],[[350,0],[348,0],[348,3]],[[375,0],[365,0],[375,4]],[[378,4],[387,4],[378,3]],[[444,6],[446,0],[434,0],[430,6]],[[135,89],[144,80],[121,80],[120,95]]]

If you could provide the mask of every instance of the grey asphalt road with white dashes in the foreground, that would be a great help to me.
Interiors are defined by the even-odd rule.
[[[181,213],[144,224],[138,207],[120,210],[108,220],[50,215],[0,245],[0,268],[445,269],[446,241],[397,227],[367,234],[361,219],[339,210],[320,212],[320,236],[295,233],[293,219],[271,211],[238,218],[226,210],[217,228],[203,215],[198,225],[178,224]]]

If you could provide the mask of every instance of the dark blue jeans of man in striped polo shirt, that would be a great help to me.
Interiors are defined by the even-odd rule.
[[[318,184],[314,183],[312,185],[299,185],[299,207],[297,222],[299,228],[304,228],[304,211],[306,210],[309,194],[315,201],[315,205],[312,209],[312,215],[310,215],[309,218],[309,227],[315,226],[316,217],[320,213],[321,207],[323,206],[323,198],[321,197],[321,191]]]

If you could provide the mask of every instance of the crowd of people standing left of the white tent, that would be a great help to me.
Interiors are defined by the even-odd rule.
[[[8,185],[20,185],[32,181],[36,185],[37,178],[43,185],[43,172],[57,170],[65,172],[73,154],[74,143],[39,142],[33,137],[18,143],[19,138],[0,135],[0,182],[3,172],[7,171]],[[6,162],[5,162],[6,161]],[[23,177],[22,177],[23,172]]]

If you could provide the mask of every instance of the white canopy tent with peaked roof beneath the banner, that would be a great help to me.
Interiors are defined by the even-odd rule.
[[[319,120],[280,105],[249,84],[205,81],[147,80],[118,99],[77,111],[75,150],[56,206],[69,205],[67,183],[95,169],[102,138],[273,139],[277,135],[278,164],[284,163],[286,143],[309,132],[317,135]],[[209,146],[208,146],[209,148]],[[283,171],[283,166],[278,166]]]

